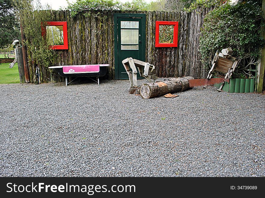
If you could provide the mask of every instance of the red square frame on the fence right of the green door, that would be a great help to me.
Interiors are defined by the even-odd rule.
[[[173,29],[173,43],[159,43],[159,25],[174,26]],[[178,47],[178,21],[156,21],[155,22],[155,47]]]

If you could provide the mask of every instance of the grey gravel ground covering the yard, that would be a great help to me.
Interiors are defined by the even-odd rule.
[[[264,95],[101,83],[0,85],[0,176],[265,176]]]

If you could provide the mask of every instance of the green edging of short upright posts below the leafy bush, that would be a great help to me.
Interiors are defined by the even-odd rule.
[[[214,76],[214,78],[217,77]],[[221,83],[214,85],[217,89],[220,86]],[[224,83],[222,90],[228,93],[253,93],[255,91],[255,79],[232,78],[229,83]]]

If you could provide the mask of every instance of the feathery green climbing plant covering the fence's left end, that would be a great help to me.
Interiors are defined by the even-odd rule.
[[[31,0],[15,0],[14,4],[26,38],[23,45],[27,47],[29,65],[33,66],[32,71],[37,65],[40,69],[54,65],[55,52],[49,48],[41,34],[41,23],[51,20],[51,9],[48,6],[42,6],[38,1],[33,6]],[[34,73],[31,73],[30,77],[33,79]]]

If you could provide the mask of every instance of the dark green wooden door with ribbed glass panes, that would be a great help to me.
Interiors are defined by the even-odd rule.
[[[121,15],[121,16],[120,16]],[[145,61],[145,14],[117,14],[114,31],[115,41],[115,78],[129,79],[122,61],[128,57]],[[142,15],[142,14],[140,14]],[[137,78],[141,78],[137,73]]]

